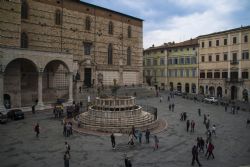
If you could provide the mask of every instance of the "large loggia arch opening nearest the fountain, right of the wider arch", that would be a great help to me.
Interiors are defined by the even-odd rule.
[[[43,72],[43,102],[65,102],[69,98],[71,77],[67,65],[60,60],[49,62]]]

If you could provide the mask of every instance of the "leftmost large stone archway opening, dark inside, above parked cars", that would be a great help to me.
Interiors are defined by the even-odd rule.
[[[11,99],[11,107],[33,105],[38,96],[37,66],[31,60],[17,58],[8,63],[4,74],[4,93]]]

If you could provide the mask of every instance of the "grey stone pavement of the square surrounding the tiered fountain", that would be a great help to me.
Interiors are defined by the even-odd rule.
[[[111,149],[110,137],[80,135],[65,138],[62,125],[53,118],[52,112],[26,114],[24,120],[0,125],[0,166],[1,167],[61,167],[63,166],[64,142],[71,145],[71,167],[123,167],[124,153],[131,158],[135,167],[187,167],[191,164],[191,149],[196,138],[205,138],[203,114],[210,114],[212,124],[217,126],[214,160],[206,160],[199,155],[200,162],[207,167],[237,167],[250,164],[250,127],[246,127],[249,112],[238,115],[225,113],[224,108],[212,104],[194,103],[175,97],[175,111],[168,111],[166,95],[163,102],[159,98],[138,99],[137,103],[158,107],[158,115],[168,122],[168,128],[158,135],[160,148],[153,150],[150,144],[127,146],[128,136],[117,136],[117,149]],[[201,108],[199,117],[197,109]],[[195,132],[187,133],[185,122],[179,120],[180,113],[186,111],[188,119],[196,122]],[[34,125],[39,122],[41,134],[35,137]],[[143,136],[144,137],[144,136]],[[196,164],[197,166],[197,164]]]

